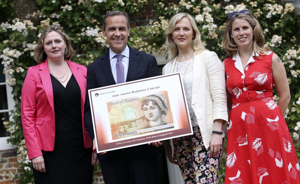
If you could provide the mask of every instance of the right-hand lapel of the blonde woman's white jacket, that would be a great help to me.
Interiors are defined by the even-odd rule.
[[[199,86],[200,86],[200,80],[201,80],[201,72],[203,67],[203,55],[204,52],[201,54],[197,54],[194,57],[194,65],[193,65],[193,83],[192,83],[192,105],[196,104],[198,99],[198,93],[199,93]],[[202,79],[205,80],[205,79]],[[205,87],[205,86],[202,86]]]

